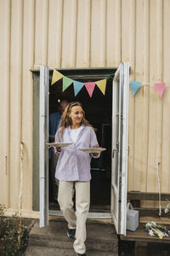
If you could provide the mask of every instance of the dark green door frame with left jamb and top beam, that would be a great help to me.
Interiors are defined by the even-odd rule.
[[[99,77],[99,79],[105,79],[106,76],[110,76],[116,73],[117,67],[106,67],[106,68],[61,68],[59,72],[65,76],[74,78],[82,78],[82,76],[88,77]],[[49,80],[53,76],[53,68],[49,68]],[[40,199],[39,199],[39,83],[40,83],[40,68],[30,69],[33,79],[33,174],[32,174],[32,209],[33,211],[40,210]],[[49,211],[53,212],[53,211]],[[59,212],[59,211],[58,211]],[[51,213],[50,213],[51,214]],[[54,212],[52,213],[54,214]],[[94,213],[93,213],[94,214]],[[100,216],[100,213],[96,213]],[[111,213],[105,213],[107,218],[111,218]]]

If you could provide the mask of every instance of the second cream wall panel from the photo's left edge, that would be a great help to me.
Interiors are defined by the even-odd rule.
[[[14,0],[11,3],[9,206],[17,207],[20,189],[23,1]]]

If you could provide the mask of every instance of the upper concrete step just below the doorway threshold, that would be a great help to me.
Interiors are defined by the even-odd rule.
[[[72,248],[74,239],[67,237],[66,233],[67,224],[65,220],[49,221],[48,227],[41,229],[39,228],[39,222],[36,221],[30,232],[29,247],[37,247],[37,249],[38,247],[46,247],[45,250],[48,250],[49,247],[50,250],[65,248],[65,250],[72,251],[75,255]],[[86,246],[88,252],[98,252],[96,255],[103,252],[103,256],[109,255],[108,253],[118,255],[118,240],[114,225],[88,222],[87,235]]]

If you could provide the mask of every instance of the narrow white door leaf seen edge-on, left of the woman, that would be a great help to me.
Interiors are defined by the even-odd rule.
[[[40,67],[39,184],[40,227],[48,225],[48,67]]]

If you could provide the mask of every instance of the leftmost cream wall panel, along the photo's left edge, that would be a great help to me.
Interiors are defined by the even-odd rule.
[[[8,109],[9,109],[9,57],[10,57],[10,1],[0,1],[0,203],[8,207]]]

